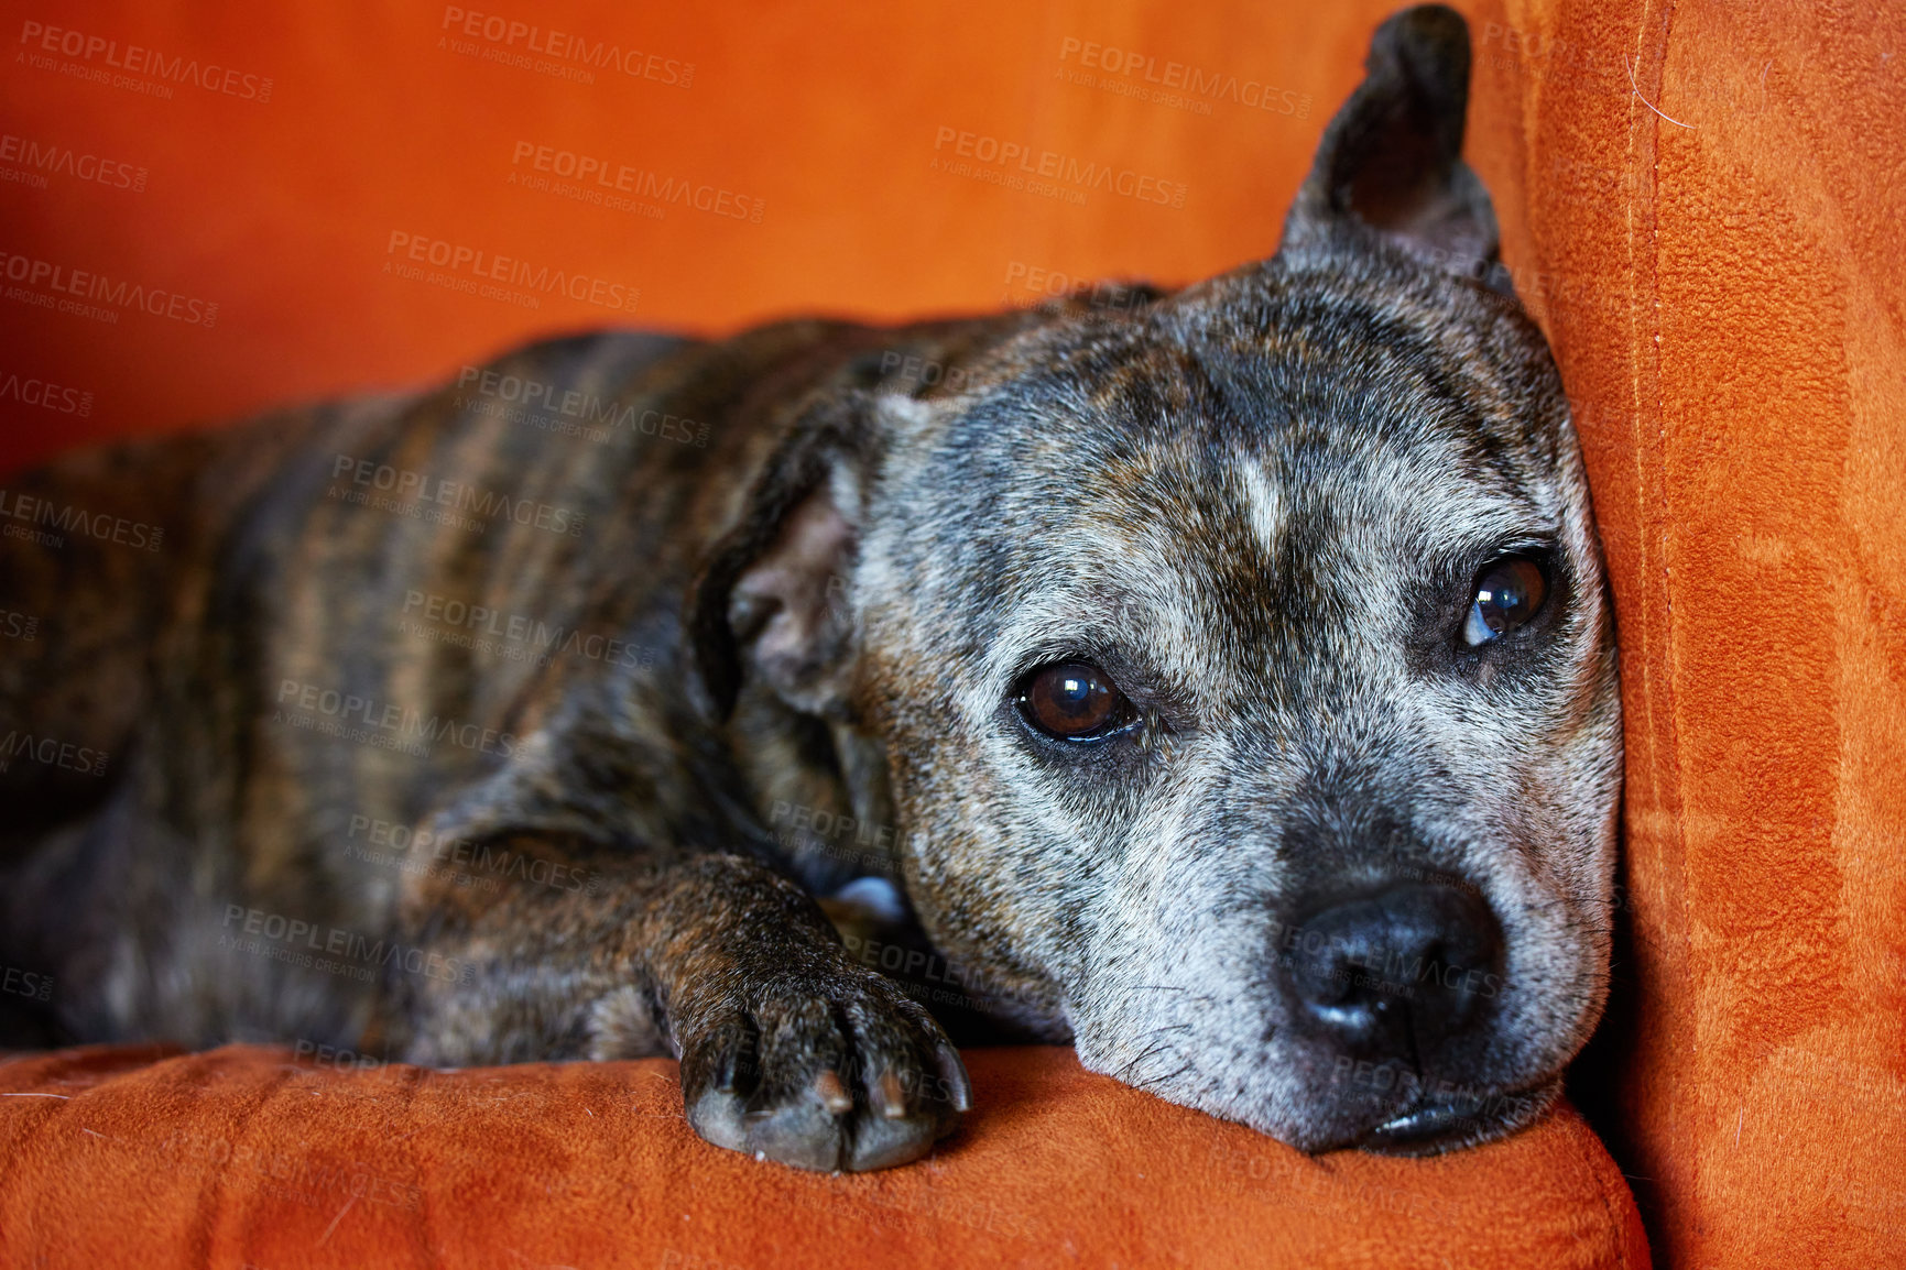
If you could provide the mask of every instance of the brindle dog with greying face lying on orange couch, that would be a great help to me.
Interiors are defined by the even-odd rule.
[[[955,1129],[961,1009],[1308,1152],[1540,1116],[1620,706],[1468,65],[1391,17],[1277,253],[1132,305],[589,333],[10,482],[8,1038],[677,1055],[804,1169]]]

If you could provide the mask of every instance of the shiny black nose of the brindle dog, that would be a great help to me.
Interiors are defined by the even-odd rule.
[[[1502,925],[1452,885],[1325,901],[1281,952],[1298,1009],[1357,1059],[1426,1062],[1502,988]]]

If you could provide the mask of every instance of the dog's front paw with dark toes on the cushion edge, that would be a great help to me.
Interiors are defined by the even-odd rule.
[[[940,1024],[844,962],[745,984],[696,1015],[677,1036],[682,1101],[717,1146],[863,1173],[919,1160],[972,1104]]]

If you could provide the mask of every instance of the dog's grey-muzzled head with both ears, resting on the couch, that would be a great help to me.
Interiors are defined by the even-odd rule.
[[[1273,259],[820,411],[703,600],[886,744],[982,994],[1309,1150],[1531,1120],[1605,992],[1611,617],[1468,61],[1378,30]]]

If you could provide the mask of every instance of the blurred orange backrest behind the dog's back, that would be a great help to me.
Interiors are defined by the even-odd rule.
[[[29,10],[0,375],[91,400],[0,392],[0,463],[532,333],[1189,282],[1277,246],[1388,8]]]

